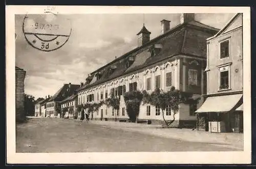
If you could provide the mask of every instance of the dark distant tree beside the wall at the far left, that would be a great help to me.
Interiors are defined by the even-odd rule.
[[[35,113],[35,97],[32,95],[24,95],[25,116],[34,116]]]

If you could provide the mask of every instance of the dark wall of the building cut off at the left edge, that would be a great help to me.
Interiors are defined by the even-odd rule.
[[[24,111],[24,80],[25,71],[15,71],[15,111],[16,121],[23,121],[25,118]]]

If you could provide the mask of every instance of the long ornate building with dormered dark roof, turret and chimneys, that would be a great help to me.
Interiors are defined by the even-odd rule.
[[[123,93],[134,90],[153,92],[156,87],[168,91],[172,86],[193,93],[194,98],[206,92],[206,39],[219,30],[195,20],[195,14],[181,14],[180,24],[172,26],[161,21],[161,35],[150,39],[151,32],[143,25],[137,34],[138,47],[114,61],[91,72],[78,89],[78,104],[94,103],[108,97],[120,96],[119,111],[102,105],[93,112],[93,119],[129,119]],[[99,56],[100,57],[100,56]],[[194,112],[198,105],[180,104],[175,126],[196,124]],[[166,120],[173,120],[173,112],[165,110]],[[162,122],[161,111],[150,104],[140,105],[139,120]]]

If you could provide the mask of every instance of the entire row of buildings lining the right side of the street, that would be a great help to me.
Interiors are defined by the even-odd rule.
[[[236,14],[221,30],[195,20],[195,14],[181,14],[180,24],[174,27],[171,21],[162,20],[161,27],[161,35],[150,39],[151,32],[143,25],[137,34],[137,48],[91,72],[80,85],[64,85],[42,101],[46,103],[45,112],[41,108],[35,116],[73,117],[72,112],[81,104],[119,96],[119,109],[103,104],[90,118],[125,120],[129,119],[125,92],[151,93],[156,88],[166,92],[174,86],[193,94],[194,99],[200,98],[198,104],[179,105],[174,126],[242,132],[242,14]],[[61,114],[64,109],[66,112]],[[166,108],[164,114],[166,120],[173,120],[173,110]],[[137,119],[163,121],[160,108],[150,104],[140,105]]]

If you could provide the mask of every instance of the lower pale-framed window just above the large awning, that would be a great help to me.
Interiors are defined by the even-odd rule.
[[[229,66],[220,68],[220,90],[229,89]]]

